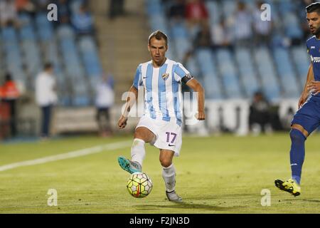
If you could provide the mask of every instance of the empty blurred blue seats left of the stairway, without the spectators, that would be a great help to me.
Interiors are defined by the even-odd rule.
[[[85,0],[67,2],[70,17],[87,4]],[[36,75],[43,63],[50,62],[58,81],[58,105],[93,105],[96,80],[90,78],[102,74],[95,34],[78,34],[71,20],[49,21],[47,14],[42,9],[34,14],[20,12],[18,26],[0,28],[1,75],[9,71],[23,88],[33,92]]]

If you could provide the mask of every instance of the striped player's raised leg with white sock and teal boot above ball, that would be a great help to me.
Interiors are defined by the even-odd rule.
[[[156,135],[146,127],[138,127],[134,132],[134,141],[131,147],[131,160],[126,157],[118,157],[118,162],[123,170],[129,173],[141,172],[142,162],[146,155],[145,144],[146,142],[153,142]]]

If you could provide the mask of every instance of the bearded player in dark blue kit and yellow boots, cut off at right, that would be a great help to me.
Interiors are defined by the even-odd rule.
[[[306,41],[311,64],[306,77],[306,85],[298,103],[299,110],[292,120],[290,138],[290,163],[292,178],[275,180],[275,185],[294,196],[301,193],[300,180],[304,163],[304,142],[320,125],[320,3],[306,7],[306,19],[314,35]]]

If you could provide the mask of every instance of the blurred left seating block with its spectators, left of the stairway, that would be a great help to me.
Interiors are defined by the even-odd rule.
[[[58,21],[48,20],[48,5]],[[55,68],[60,105],[90,105],[92,86],[102,74],[95,25],[87,1],[0,1],[0,75],[9,72],[22,93],[50,62]]]

